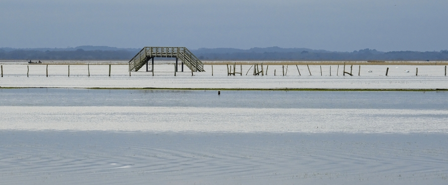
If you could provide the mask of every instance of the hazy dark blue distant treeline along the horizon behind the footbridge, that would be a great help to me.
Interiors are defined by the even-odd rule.
[[[81,47],[81,46],[79,46]],[[53,49],[13,49],[0,48],[0,59],[7,60],[130,60],[140,49],[101,50],[99,46],[82,46],[82,48]],[[106,46],[101,46],[109,49]],[[84,48],[84,49],[83,49]],[[76,50],[73,50],[76,49]],[[95,50],[89,50],[95,49]],[[333,52],[307,48],[200,48],[191,50],[201,60],[299,60],[299,61],[356,61],[356,60],[415,60],[448,61],[448,50],[441,51],[390,51],[361,49],[353,52]]]

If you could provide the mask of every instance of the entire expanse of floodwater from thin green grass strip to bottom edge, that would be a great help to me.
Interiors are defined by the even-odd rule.
[[[446,93],[0,89],[0,184],[444,185]]]

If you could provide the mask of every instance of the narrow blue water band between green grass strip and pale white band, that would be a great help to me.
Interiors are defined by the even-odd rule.
[[[0,89],[0,106],[448,110],[448,92]]]

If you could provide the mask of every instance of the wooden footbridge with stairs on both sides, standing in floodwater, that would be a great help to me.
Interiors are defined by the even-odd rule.
[[[138,71],[146,64],[146,71],[154,71],[155,57],[176,58],[175,71],[178,71],[178,59],[182,62],[182,71],[184,64],[193,72],[204,72],[204,64],[186,47],[144,47],[130,61],[129,71]],[[148,63],[151,60],[151,70],[148,70]]]

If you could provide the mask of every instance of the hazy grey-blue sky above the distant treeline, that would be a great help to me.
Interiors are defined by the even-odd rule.
[[[0,0],[0,47],[448,49],[448,0]]]

